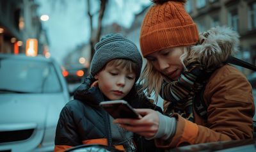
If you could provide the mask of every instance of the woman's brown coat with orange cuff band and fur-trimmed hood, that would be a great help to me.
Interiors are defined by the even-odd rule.
[[[255,107],[252,86],[243,73],[233,66],[223,64],[228,56],[237,51],[238,42],[236,32],[228,28],[213,28],[200,34],[200,45],[192,47],[189,52],[192,60],[200,59],[204,65],[219,67],[205,86],[207,120],[198,116],[195,111],[195,123],[179,114],[173,114],[177,118],[175,135],[167,141],[156,139],[157,146],[174,148],[185,143],[199,144],[253,137],[252,118]],[[164,102],[164,107],[168,103],[170,102]]]

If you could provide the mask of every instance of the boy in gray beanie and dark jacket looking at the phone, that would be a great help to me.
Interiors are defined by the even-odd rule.
[[[152,150],[153,141],[134,145],[134,135],[112,123],[113,118],[99,107],[100,102],[124,99],[134,108],[155,108],[139,98],[135,82],[140,77],[142,57],[136,45],[121,34],[108,34],[95,45],[90,67],[91,79],[77,88],[74,99],[61,110],[54,151],[81,144],[102,144],[121,151]],[[92,80],[96,81],[91,84]],[[140,101],[138,101],[140,100]],[[142,142],[141,142],[142,141]],[[145,140],[144,140],[145,141]],[[148,144],[148,146],[147,146]],[[142,147],[142,146],[141,146]]]

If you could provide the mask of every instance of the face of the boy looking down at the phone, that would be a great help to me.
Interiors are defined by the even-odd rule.
[[[126,68],[108,64],[101,70],[95,79],[99,80],[99,89],[109,100],[124,98],[134,85],[136,74]]]

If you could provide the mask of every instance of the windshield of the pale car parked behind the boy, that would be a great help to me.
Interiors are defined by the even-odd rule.
[[[54,66],[43,61],[0,59],[0,93],[56,93],[61,91]]]

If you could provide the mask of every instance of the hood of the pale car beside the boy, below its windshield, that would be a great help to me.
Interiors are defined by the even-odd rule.
[[[67,102],[61,93],[0,94],[0,131],[56,127]]]

